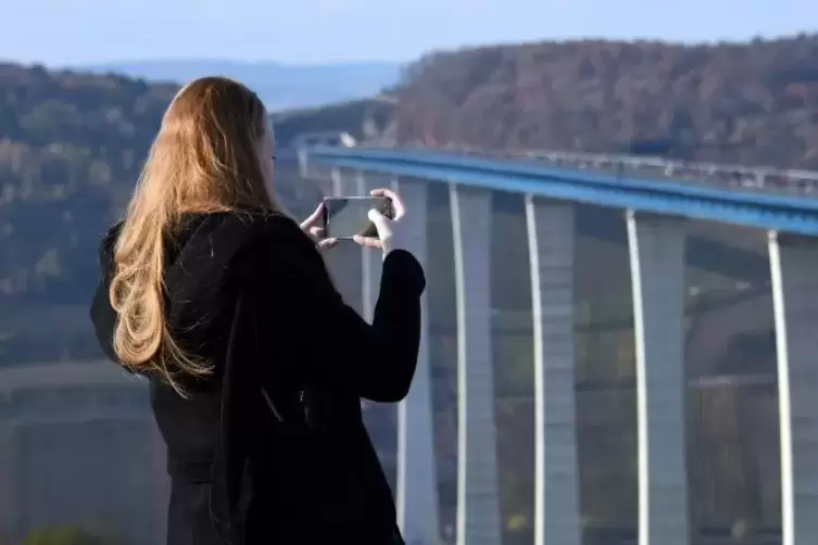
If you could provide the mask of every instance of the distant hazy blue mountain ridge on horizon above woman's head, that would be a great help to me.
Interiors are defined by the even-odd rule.
[[[77,68],[179,84],[207,75],[228,76],[256,91],[269,110],[317,106],[370,97],[398,84],[403,69],[402,64],[392,62],[293,65],[184,59],[123,61]]]

